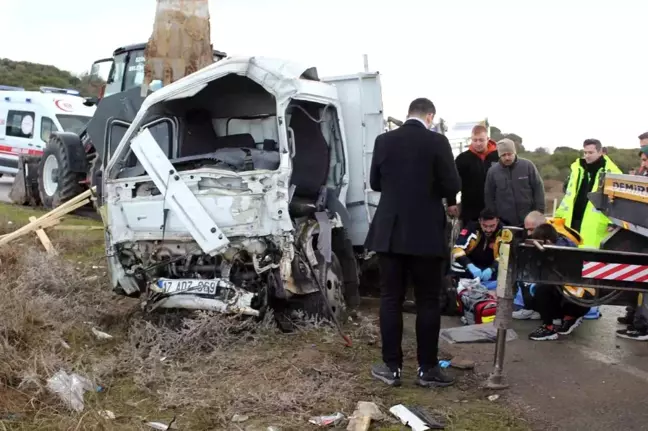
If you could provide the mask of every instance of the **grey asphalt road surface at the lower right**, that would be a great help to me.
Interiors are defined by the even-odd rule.
[[[586,320],[558,341],[530,341],[538,321],[514,321],[518,339],[506,345],[510,385],[497,402],[519,407],[537,430],[648,429],[648,342],[615,336],[623,307],[604,306],[603,317]],[[413,317],[413,316],[412,316]],[[444,326],[459,326],[444,318]],[[493,369],[494,344],[442,345]]]

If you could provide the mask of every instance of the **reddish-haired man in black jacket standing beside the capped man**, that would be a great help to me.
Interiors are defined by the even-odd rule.
[[[459,218],[463,227],[477,222],[479,213],[484,209],[484,186],[488,169],[497,164],[497,144],[488,137],[488,130],[481,124],[473,127],[468,150],[457,156],[455,164],[461,177],[461,212]],[[455,197],[448,199],[451,209],[456,204]],[[451,212],[452,214],[452,212]]]

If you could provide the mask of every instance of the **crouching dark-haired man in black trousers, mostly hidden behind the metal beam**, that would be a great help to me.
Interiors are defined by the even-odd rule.
[[[577,247],[577,245],[558,233],[549,223],[537,226],[531,238],[544,241],[546,244],[554,244],[562,247]],[[569,295],[577,298],[592,298],[594,289],[563,286]],[[563,297],[558,286],[536,284],[534,296],[534,308],[540,313],[542,326],[529,334],[529,339],[535,341],[557,340],[559,335],[569,335],[582,322],[589,311],[589,307],[583,307]],[[560,324],[554,324],[554,319],[560,319]]]

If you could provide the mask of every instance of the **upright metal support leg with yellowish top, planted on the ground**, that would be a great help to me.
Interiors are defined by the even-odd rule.
[[[497,339],[495,341],[493,372],[484,384],[488,389],[508,388],[508,383],[506,383],[504,378],[504,357],[506,353],[506,334],[513,322],[513,298],[516,278],[515,246],[516,241],[513,229],[505,228],[502,232],[500,261],[497,274],[497,314],[494,323],[497,328]]]

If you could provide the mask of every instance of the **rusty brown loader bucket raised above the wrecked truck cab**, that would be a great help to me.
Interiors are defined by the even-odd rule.
[[[144,57],[145,97],[152,81],[168,85],[214,62],[208,0],[157,0]]]

